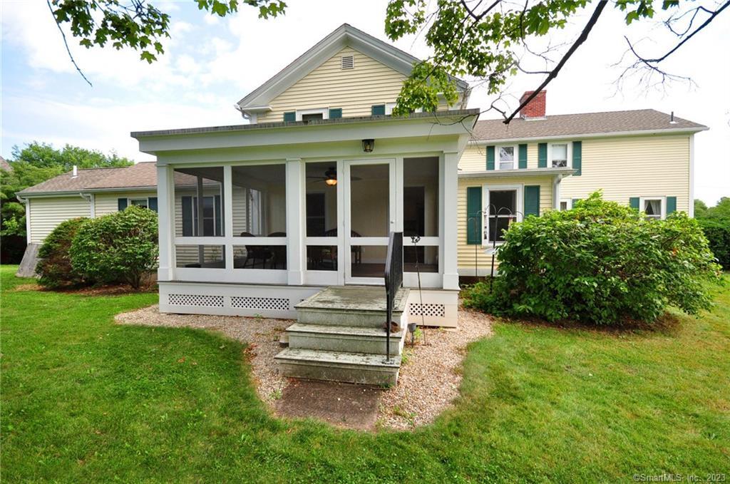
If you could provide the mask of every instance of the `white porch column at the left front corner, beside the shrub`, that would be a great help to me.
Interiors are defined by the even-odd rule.
[[[174,220],[175,204],[172,168],[157,167],[157,213],[160,257],[157,269],[157,280],[166,281],[174,278]]]

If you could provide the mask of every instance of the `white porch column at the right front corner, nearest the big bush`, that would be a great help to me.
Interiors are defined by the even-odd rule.
[[[444,153],[444,210],[443,240],[444,253],[444,289],[458,289],[458,261],[456,260],[458,228],[457,196],[458,196],[458,158],[459,153]]]

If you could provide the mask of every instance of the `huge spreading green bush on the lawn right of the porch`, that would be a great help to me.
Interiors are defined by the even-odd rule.
[[[600,193],[515,223],[504,238],[493,291],[475,285],[467,306],[550,321],[652,322],[669,305],[689,314],[709,307],[704,281],[719,274],[696,220],[646,220]]]

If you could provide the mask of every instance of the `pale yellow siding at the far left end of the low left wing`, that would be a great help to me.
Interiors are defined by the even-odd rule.
[[[41,243],[59,223],[91,216],[89,202],[79,195],[31,198],[31,242]]]

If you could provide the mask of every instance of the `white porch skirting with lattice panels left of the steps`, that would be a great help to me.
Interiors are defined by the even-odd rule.
[[[296,304],[316,287],[159,283],[160,311],[182,314],[296,318]]]

